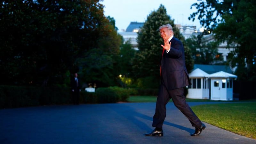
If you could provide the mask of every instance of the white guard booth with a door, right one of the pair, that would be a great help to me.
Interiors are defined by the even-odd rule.
[[[210,74],[211,100],[233,100],[233,80],[236,75],[219,71]]]

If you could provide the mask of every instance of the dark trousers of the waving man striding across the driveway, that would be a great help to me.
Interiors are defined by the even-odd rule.
[[[201,127],[202,122],[186,102],[184,88],[167,90],[164,84],[161,84],[159,88],[156,100],[156,112],[153,116],[153,127],[162,129],[166,117],[166,104],[170,99],[172,99],[174,105],[188,118],[192,126]]]

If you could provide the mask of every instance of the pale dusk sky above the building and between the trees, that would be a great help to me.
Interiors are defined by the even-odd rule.
[[[167,14],[174,19],[174,24],[192,25],[197,29],[201,27],[199,20],[188,20],[191,13],[196,12],[195,7],[190,6],[197,0],[104,0],[104,15],[116,20],[118,32],[125,30],[130,22],[145,22],[147,16],[156,11],[163,4]]]

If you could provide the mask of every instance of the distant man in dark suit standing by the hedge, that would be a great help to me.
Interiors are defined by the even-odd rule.
[[[71,88],[72,88],[73,103],[74,105],[78,105],[81,88],[80,88],[80,80],[77,78],[77,73],[75,73],[75,77],[71,79]]]

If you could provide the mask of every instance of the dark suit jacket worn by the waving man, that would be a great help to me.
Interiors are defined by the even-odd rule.
[[[181,88],[191,84],[185,65],[183,44],[179,39],[171,39],[171,50],[164,50],[161,59],[162,82],[168,90]]]

